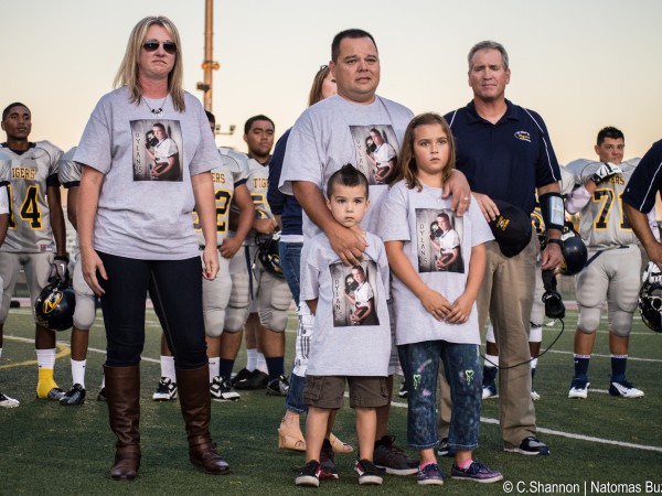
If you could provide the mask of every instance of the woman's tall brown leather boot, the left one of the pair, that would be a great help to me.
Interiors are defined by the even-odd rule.
[[[117,436],[110,477],[134,481],[140,466],[140,366],[104,366],[110,430]]]

